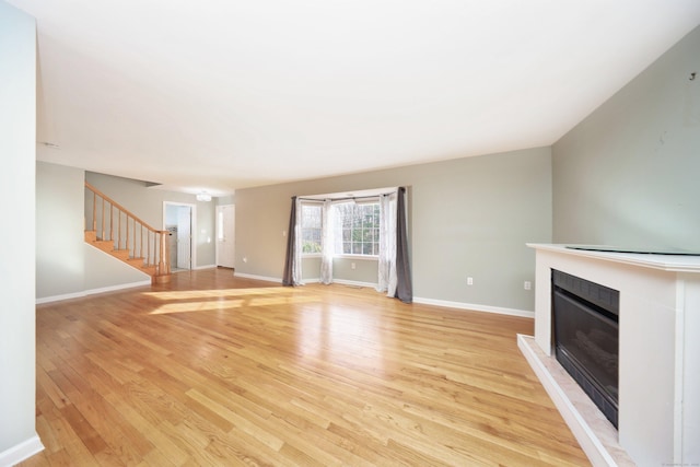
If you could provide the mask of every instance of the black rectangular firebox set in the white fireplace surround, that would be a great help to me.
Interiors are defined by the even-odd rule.
[[[552,269],[551,293],[556,358],[617,428],[619,292]]]

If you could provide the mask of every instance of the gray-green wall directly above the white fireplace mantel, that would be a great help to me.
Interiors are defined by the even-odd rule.
[[[552,167],[555,242],[700,250],[700,27],[561,138]]]

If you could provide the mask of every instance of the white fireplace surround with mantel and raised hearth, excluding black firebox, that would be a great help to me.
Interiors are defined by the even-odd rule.
[[[592,463],[700,464],[700,256],[528,246],[535,337],[518,345]],[[619,431],[553,357],[551,269],[620,292]]]

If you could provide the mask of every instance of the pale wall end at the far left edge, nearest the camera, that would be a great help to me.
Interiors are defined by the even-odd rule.
[[[35,431],[36,24],[0,1],[0,464]],[[25,455],[31,453],[24,452]]]

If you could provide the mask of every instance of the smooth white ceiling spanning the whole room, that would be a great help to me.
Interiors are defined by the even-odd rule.
[[[37,19],[38,160],[214,196],[549,145],[700,24],[699,0],[8,1]]]

